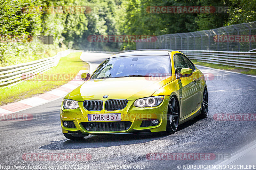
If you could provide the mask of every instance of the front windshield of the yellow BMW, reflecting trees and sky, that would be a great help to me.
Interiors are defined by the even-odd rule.
[[[107,59],[91,79],[166,75],[171,75],[170,57],[167,55],[127,56]]]

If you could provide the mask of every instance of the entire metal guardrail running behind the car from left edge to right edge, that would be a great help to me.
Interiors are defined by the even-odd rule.
[[[127,50],[138,51],[138,50],[170,50],[172,49],[137,49]],[[234,52],[234,51],[208,51],[208,50],[177,50],[187,55],[192,60],[197,60],[204,63],[214,63],[229,65],[234,67],[241,67],[247,69],[256,69],[256,52]],[[84,50],[73,50],[68,49],[65,51],[58,52],[57,55],[49,58],[44,58],[28,63],[21,63],[12,66],[0,67],[0,86],[12,84],[22,80],[22,78],[31,76],[33,74],[40,73],[51,67],[56,66],[59,63],[61,57],[64,57],[72,52],[99,52],[99,53],[110,53],[115,54],[118,52],[107,52],[107,51],[84,51]],[[27,75],[27,76],[26,76]]]

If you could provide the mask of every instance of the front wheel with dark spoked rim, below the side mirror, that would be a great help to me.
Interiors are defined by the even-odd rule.
[[[169,134],[173,134],[177,131],[179,124],[179,107],[177,100],[174,97],[171,97],[171,100],[168,104],[167,109],[167,124],[166,131]]]

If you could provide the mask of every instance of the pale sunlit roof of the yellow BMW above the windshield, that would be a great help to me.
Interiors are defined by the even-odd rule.
[[[141,51],[130,51],[119,54],[111,55],[108,58],[123,57],[123,56],[136,56],[136,55],[170,55],[170,50],[141,50]]]

